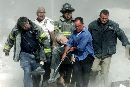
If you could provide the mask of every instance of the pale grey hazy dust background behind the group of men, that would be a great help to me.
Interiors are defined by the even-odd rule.
[[[68,2],[75,8],[73,17],[81,16],[87,26],[99,16],[102,9],[110,11],[110,19],[120,24],[130,40],[130,0],[0,0],[0,87],[23,87],[23,71],[19,63],[12,60],[12,54],[5,57],[3,44],[20,16],[31,20],[36,18],[36,10],[44,6],[46,16],[58,20],[62,5]],[[125,49],[118,41],[117,53],[110,68],[111,81],[127,80],[130,77],[130,61],[125,57]]]

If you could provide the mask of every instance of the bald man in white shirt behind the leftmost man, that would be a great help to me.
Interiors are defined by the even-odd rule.
[[[43,65],[45,70],[45,74],[43,75],[43,85],[44,87],[48,87],[48,79],[50,78],[51,73],[50,65],[52,57],[52,40],[54,37],[54,23],[53,20],[45,16],[45,13],[45,8],[39,7],[37,9],[37,19],[34,20],[34,23],[42,27],[48,37],[48,39],[44,41],[44,51],[47,61]]]

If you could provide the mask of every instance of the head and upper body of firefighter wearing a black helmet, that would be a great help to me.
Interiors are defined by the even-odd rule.
[[[65,3],[60,10],[62,16],[60,16],[58,21],[55,21],[55,26],[58,27],[59,32],[61,32],[67,38],[69,38],[74,29],[74,23],[72,18],[72,12],[74,11],[75,9],[72,8],[69,3]]]

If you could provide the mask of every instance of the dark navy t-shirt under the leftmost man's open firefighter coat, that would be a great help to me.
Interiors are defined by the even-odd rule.
[[[31,28],[26,31],[23,30],[21,33],[21,51],[33,54],[39,48],[38,46],[38,40],[33,30]]]

